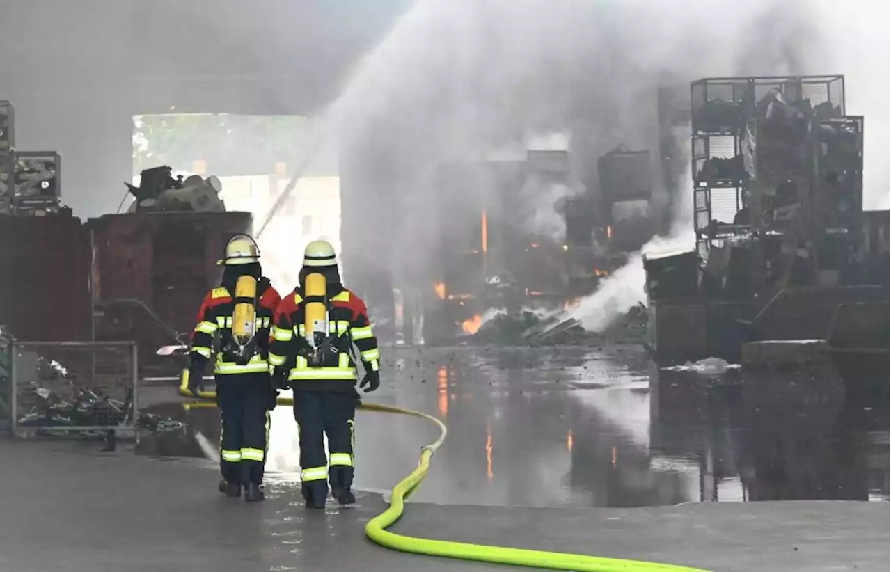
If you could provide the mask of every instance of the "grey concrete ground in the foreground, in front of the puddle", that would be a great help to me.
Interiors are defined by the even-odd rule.
[[[0,440],[0,569],[17,572],[505,569],[400,554],[364,539],[385,506],[305,511],[297,488],[266,503],[217,493],[216,467],[98,445]],[[436,462],[436,460],[434,461]],[[434,469],[435,470],[435,469]],[[410,503],[396,531],[551,551],[660,560],[715,572],[881,572],[891,558],[886,503],[702,503],[546,509]]]

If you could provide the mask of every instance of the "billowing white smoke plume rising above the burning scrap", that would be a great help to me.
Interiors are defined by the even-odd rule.
[[[571,134],[589,175],[618,143],[658,159],[656,95],[666,81],[833,73],[818,10],[805,0],[421,0],[330,110],[351,184],[362,187],[363,222],[380,223],[345,224],[344,244],[423,282],[438,260],[437,222],[468,216],[436,207],[438,164],[548,132]],[[552,225],[550,195],[535,204],[544,229],[530,232]],[[617,272],[594,299],[619,311],[642,298],[639,270]],[[625,295],[619,284],[632,283]]]

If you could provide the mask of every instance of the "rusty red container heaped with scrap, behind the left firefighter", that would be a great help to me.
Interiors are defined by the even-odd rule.
[[[217,259],[248,212],[147,212],[87,222],[94,249],[96,339],[135,339],[149,357],[191,332],[201,299],[220,277]],[[143,362],[143,360],[140,360]]]

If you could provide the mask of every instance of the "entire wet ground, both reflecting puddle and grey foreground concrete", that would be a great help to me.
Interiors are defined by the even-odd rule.
[[[633,348],[388,354],[392,374],[374,401],[437,413],[450,428],[396,532],[716,572],[887,570],[885,503],[699,503],[886,498],[887,410],[845,404],[831,377],[779,392],[777,380],[739,373],[655,372]],[[146,389],[147,400],[174,392]],[[385,506],[377,494],[305,511],[287,408],[273,425],[278,478],[259,505],[216,491],[217,467],[203,458],[214,456],[215,410],[155,409],[189,425],[143,436],[141,455],[0,439],[0,569],[510,569],[369,543],[364,523]],[[362,413],[358,425],[367,489],[392,486],[434,437],[395,415]]]

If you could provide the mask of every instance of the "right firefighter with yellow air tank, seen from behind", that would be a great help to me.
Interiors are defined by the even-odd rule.
[[[306,506],[323,508],[329,483],[338,503],[356,503],[351,490],[359,404],[356,362],[362,362],[365,372],[359,387],[374,391],[380,386],[380,353],[365,303],[340,282],[328,242],[307,245],[298,287],[276,309],[272,335],[274,382],[294,392]]]

